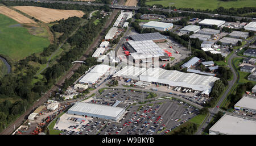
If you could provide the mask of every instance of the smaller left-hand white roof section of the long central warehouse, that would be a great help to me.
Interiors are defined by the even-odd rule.
[[[131,78],[133,80],[139,80],[139,75],[145,72],[146,70],[146,68],[139,68],[136,66],[125,66],[117,73],[115,73],[113,77],[125,77]]]

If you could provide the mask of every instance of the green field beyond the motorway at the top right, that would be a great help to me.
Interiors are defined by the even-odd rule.
[[[177,9],[179,8],[193,8],[193,9],[201,9],[201,10],[214,10],[218,7],[224,7],[224,8],[240,8],[240,7],[255,7],[256,2],[255,0],[238,0],[238,1],[229,1],[229,2],[222,2],[218,0],[163,0],[163,1],[146,1],[146,5],[155,5],[160,4],[163,6],[169,6],[169,3],[174,3],[174,5]]]

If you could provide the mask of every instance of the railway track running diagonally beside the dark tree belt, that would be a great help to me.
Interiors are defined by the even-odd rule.
[[[79,60],[84,61],[86,59],[86,56],[89,55],[90,51],[92,51],[93,48],[97,47],[98,45],[98,41],[101,40],[101,37],[103,36],[103,32],[106,30],[106,28],[109,27],[109,25],[112,23],[113,19],[115,18],[115,15],[117,15],[119,10],[115,9],[112,14],[109,17],[108,22],[105,23],[104,28],[101,30],[100,34],[96,37],[96,39],[94,40],[93,44],[90,45],[90,47],[86,50],[86,52],[84,53],[83,56],[80,57]],[[34,103],[33,106],[30,107],[30,109],[28,109],[27,111],[25,111],[21,116],[19,116],[18,119],[15,120],[15,122],[11,123],[9,125],[9,127],[7,127],[5,130],[3,130],[0,134],[1,135],[10,135],[15,131],[16,127],[19,127],[24,120],[27,119],[28,115],[31,114],[31,112],[34,111],[35,107],[38,107],[40,105],[42,105],[44,102],[47,101],[48,97],[50,97],[50,94],[52,93],[52,91],[56,91],[57,89],[59,89],[60,86],[62,86],[62,84],[64,83],[65,79],[70,78],[75,71],[81,66],[81,64],[75,64],[72,66],[71,69],[69,69],[66,74],[60,78],[59,82],[57,82],[57,84],[53,85],[51,87],[50,90],[47,91],[46,94],[44,94],[37,102]]]

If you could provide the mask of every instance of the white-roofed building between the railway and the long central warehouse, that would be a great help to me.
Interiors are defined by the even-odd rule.
[[[95,84],[110,68],[111,66],[105,64],[96,65],[89,73],[86,73],[79,82],[83,84]]]

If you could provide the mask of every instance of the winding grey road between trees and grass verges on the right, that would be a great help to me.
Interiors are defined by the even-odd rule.
[[[253,39],[250,39],[249,41],[247,41],[247,43],[245,45],[243,45],[243,47],[249,46],[250,43],[253,42],[254,40],[256,40],[256,37],[254,37]],[[207,125],[209,124],[210,120],[212,120],[214,114],[217,114],[217,112],[220,111],[220,109],[218,107],[220,107],[221,103],[226,99],[226,97],[228,96],[228,93],[232,89],[233,85],[236,85],[238,73],[237,73],[236,69],[233,68],[233,65],[232,65],[232,59],[234,59],[234,57],[241,57],[241,56],[237,56],[236,53],[233,53],[229,57],[228,67],[231,69],[231,71],[233,73],[233,80],[228,82],[229,83],[228,89],[224,92],[224,94],[222,95],[222,97],[218,101],[217,105],[214,108],[209,109],[210,116],[208,116],[208,118],[206,118],[204,120],[203,125],[201,125],[199,127],[199,130],[196,132],[196,135],[200,135],[203,132],[204,128],[207,127]],[[224,111],[224,112],[227,112],[227,111]],[[229,114],[234,114],[233,112],[228,112],[228,113]]]

